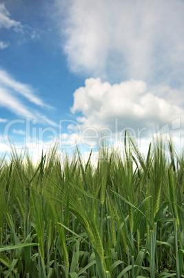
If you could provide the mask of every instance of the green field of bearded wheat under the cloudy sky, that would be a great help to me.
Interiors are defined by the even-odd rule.
[[[0,277],[184,277],[184,152],[124,145],[96,166],[57,147],[1,158]]]

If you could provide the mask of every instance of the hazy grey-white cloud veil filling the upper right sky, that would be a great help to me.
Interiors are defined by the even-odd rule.
[[[62,29],[69,66],[110,82],[183,82],[183,12],[181,0],[70,1]]]

